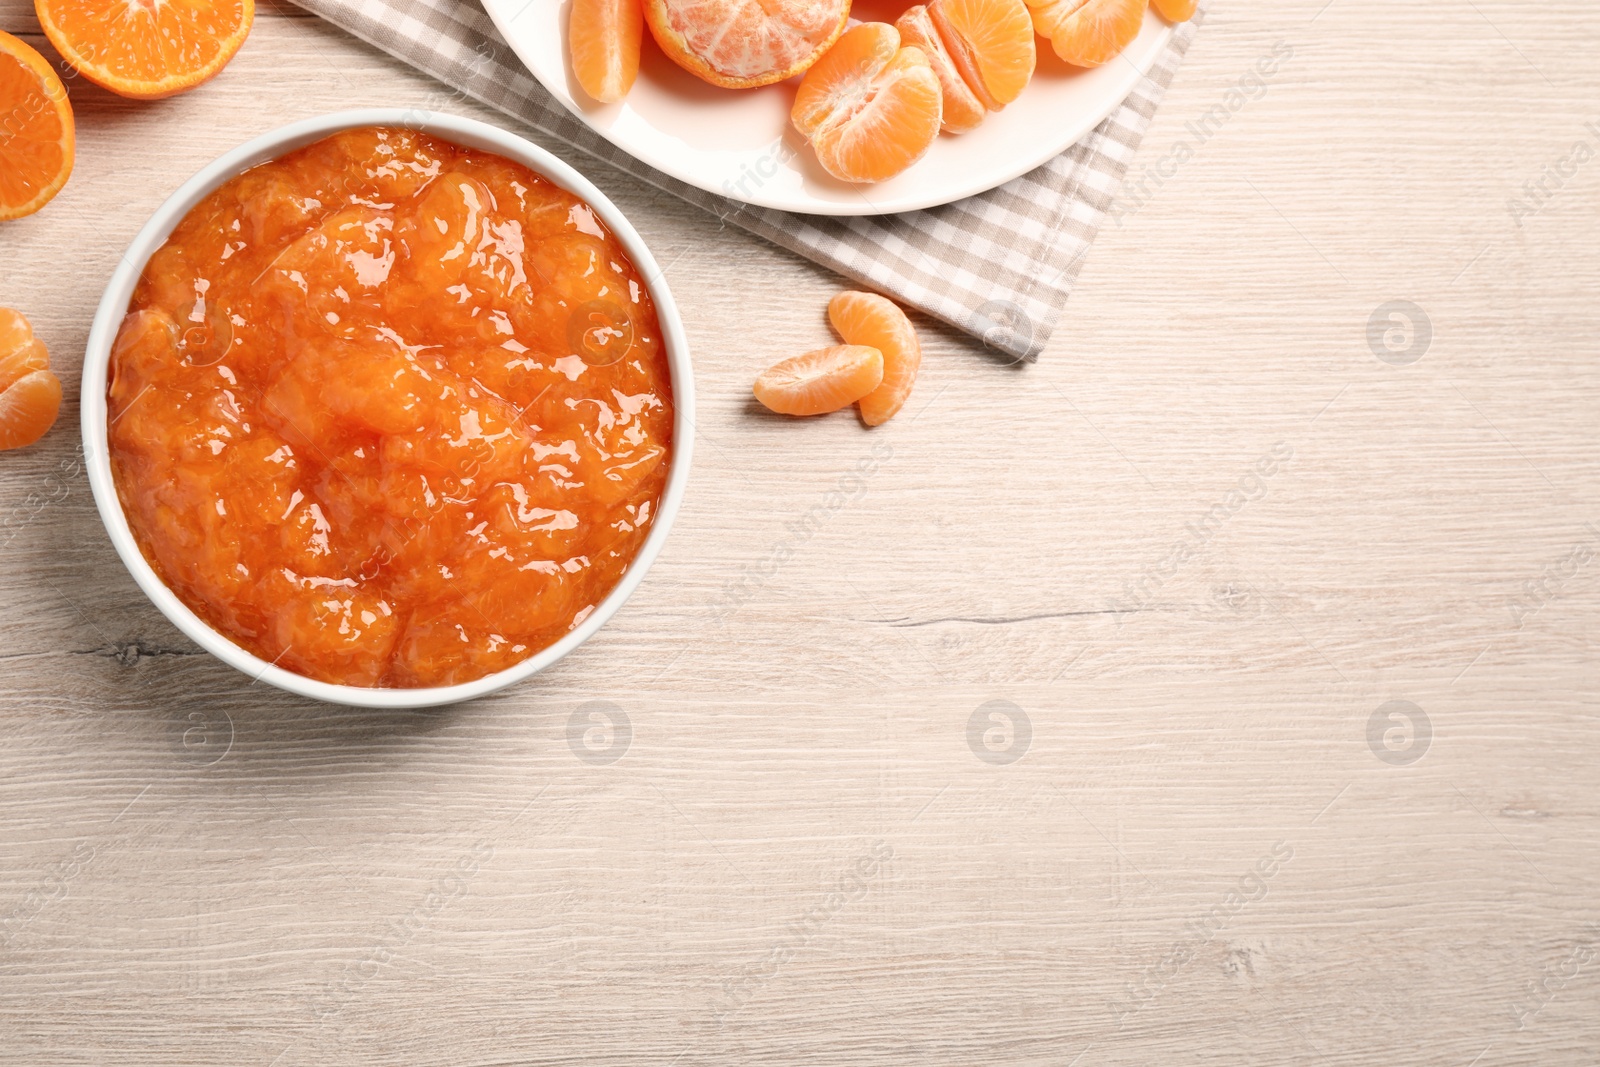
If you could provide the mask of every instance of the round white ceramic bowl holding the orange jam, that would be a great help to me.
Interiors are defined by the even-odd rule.
[[[128,518],[123,515],[122,501],[117,498],[117,486],[114,485],[110,475],[110,453],[107,448],[106,427],[106,371],[110,362],[112,341],[117,338],[117,328],[122,325],[123,315],[128,314],[128,301],[133,298],[134,285],[138,285],[139,275],[144,272],[146,261],[157,248],[162,246],[166,237],[173,232],[173,227],[176,227],[178,222],[189,214],[197,203],[200,203],[202,198],[227,179],[234,178],[240,171],[256,166],[258,163],[275,160],[286,152],[352,126],[408,126],[470,149],[496,152],[506,158],[533,168],[566,192],[581,197],[595,210],[595,213],[598,213],[616,238],[622,243],[622,248],[627,250],[627,254],[634,261],[634,266],[638,267],[638,272],[645,278],[650,278],[650,296],[654,299],[656,315],[661,320],[661,336],[666,344],[667,365],[672,376],[672,402],[675,405],[675,414],[672,422],[672,461],[667,472],[667,486],[661,496],[661,509],[656,512],[656,522],[651,526],[650,534],[645,537],[645,544],[640,547],[638,555],[622,574],[622,579],[600,603],[600,606],[582,621],[582,624],[566,633],[566,637],[555,645],[530,656],[515,667],[486,675],[475,681],[466,681],[462,685],[424,689],[368,689],[349,685],[333,685],[307,678],[306,675],[285,670],[283,667],[275,667],[258,656],[253,656],[222,637],[210,624],[203,622],[200,616],[190,611],[189,606],[184,605],[184,601],[179,600],[160,577],[157,577],[150,563],[144,558],[144,553],[139,552],[139,545],[134,542],[133,533],[128,530]],[[162,609],[162,614],[171,619],[179,630],[187,633],[190,640],[222,662],[238,667],[238,670],[250,675],[253,680],[267,681],[280,689],[288,689],[290,693],[334,704],[354,704],[360,707],[429,707],[435,704],[469,701],[472,697],[501,689],[514,681],[522,681],[523,678],[544,670],[562,656],[589,640],[589,637],[598,630],[618,608],[622,606],[622,601],[626,601],[629,593],[634,592],[634,587],[637,587],[640,579],[645,577],[645,571],[650,569],[651,560],[654,560],[656,553],[661,552],[661,544],[666,541],[672,520],[678,512],[678,504],[683,501],[683,488],[688,482],[690,472],[690,454],[693,451],[693,434],[694,379],[690,373],[690,349],[688,339],[683,334],[683,320],[678,317],[677,304],[672,301],[672,293],[667,290],[667,282],[666,277],[662,277],[661,267],[650,254],[650,250],[645,248],[645,242],[640,238],[638,232],[626,218],[622,218],[622,213],[616,210],[616,205],[613,205],[605,194],[595,189],[582,174],[523,138],[470,118],[453,118],[450,115],[416,110],[368,109],[338,112],[320,118],[307,118],[306,122],[274,130],[272,133],[262,134],[254,141],[227,152],[190,178],[178,192],[168,197],[166,203],[163,203],[150,221],[144,224],[139,235],[133,238],[133,245],[128,246],[128,253],[122,258],[115,274],[110,277],[110,283],[106,286],[106,294],[101,298],[99,310],[94,314],[94,325],[90,330],[88,352],[83,357],[83,454],[90,472],[90,486],[94,491],[94,504],[99,507],[101,518],[106,522],[106,531],[110,533],[110,541],[117,545],[117,553],[122,555],[122,561],[126,563],[128,571],[133,573],[133,579],[139,582],[139,589],[146,592],[155,606]]]

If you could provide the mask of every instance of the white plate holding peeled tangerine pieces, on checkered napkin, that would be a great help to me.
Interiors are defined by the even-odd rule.
[[[1035,37],[1038,69],[1010,107],[960,136],[941,134],[910,170],[875,186],[829,178],[789,125],[798,78],[722,90],[666,58],[645,30],[627,99],[597,104],[566,62],[570,0],[483,0],[528,70],[589,128],[678,181],[760,208],[805,214],[915,211],[971,197],[1026,174],[1098,126],[1139,83],[1173,27],[1146,13],[1139,37],[1094,70],[1070,67]],[[856,0],[853,21],[893,22],[909,0]]]

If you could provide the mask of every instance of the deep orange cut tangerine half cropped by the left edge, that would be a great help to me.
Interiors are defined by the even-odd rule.
[[[29,43],[0,30],[0,219],[34,214],[72,174],[72,106]]]

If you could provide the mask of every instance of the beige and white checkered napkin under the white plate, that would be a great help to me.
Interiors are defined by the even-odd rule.
[[[541,133],[1018,360],[1037,358],[1056,328],[1083,256],[1200,18],[1179,27],[1150,75],[1110,118],[1043,166],[942,208],[826,218],[752,208],[645,166],[557,102],[472,0],[294,2]]]

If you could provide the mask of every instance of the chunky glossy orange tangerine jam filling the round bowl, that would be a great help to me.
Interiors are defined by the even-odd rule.
[[[557,641],[656,517],[672,386],[578,197],[347,130],[202,200],[112,347],[112,474],[178,597],[264,661],[437,686]]]

